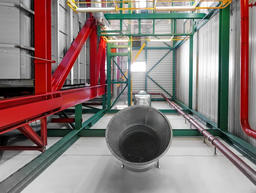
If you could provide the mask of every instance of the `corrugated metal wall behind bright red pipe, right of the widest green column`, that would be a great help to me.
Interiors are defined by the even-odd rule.
[[[251,2],[252,3],[252,2]],[[256,147],[240,126],[240,1],[230,4],[229,131]],[[256,128],[256,7],[249,8],[249,122]]]

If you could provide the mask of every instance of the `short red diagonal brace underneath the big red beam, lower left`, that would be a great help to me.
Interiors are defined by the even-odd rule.
[[[18,128],[18,130],[31,141],[33,141],[37,146],[44,147],[43,139],[41,139],[40,136],[37,133],[35,133],[32,127],[30,127],[28,124]]]

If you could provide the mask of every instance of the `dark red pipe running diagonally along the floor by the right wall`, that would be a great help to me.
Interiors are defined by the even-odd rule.
[[[211,135],[204,127],[198,124],[191,116],[183,112],[177,105],[166,98],[165,95],[161,93],[162,97],[171,104],[177,112],[180,113],[190,124],[192,124],[205,138],[207,138],[212,145],[214,145],[221,153],[224,154],[254,185],[256,185],[256,172],[248,166],[241,158],[236,156],[230,149],[228,149],[224,144],[222,144],[217,138]]]

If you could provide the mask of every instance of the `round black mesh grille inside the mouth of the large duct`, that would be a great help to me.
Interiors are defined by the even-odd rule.
[[[134,163],[157,158],[163,152],[159,136],[145,125],[134,125],[122,133],[119,149],[122,156]]]

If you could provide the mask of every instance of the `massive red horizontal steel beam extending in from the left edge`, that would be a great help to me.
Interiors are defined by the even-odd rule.
[[[0,100],[0,134],[106,93],[106,85]]]

